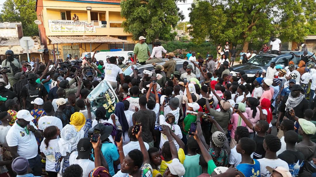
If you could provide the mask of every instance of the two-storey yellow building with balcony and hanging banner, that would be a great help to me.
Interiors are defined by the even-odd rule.
[[[46,60],[95,50],[133,50],[132,34],[121,27],[120,0],[37,0],[35,11]],[[76,17],[75,17],[76,14]]]

